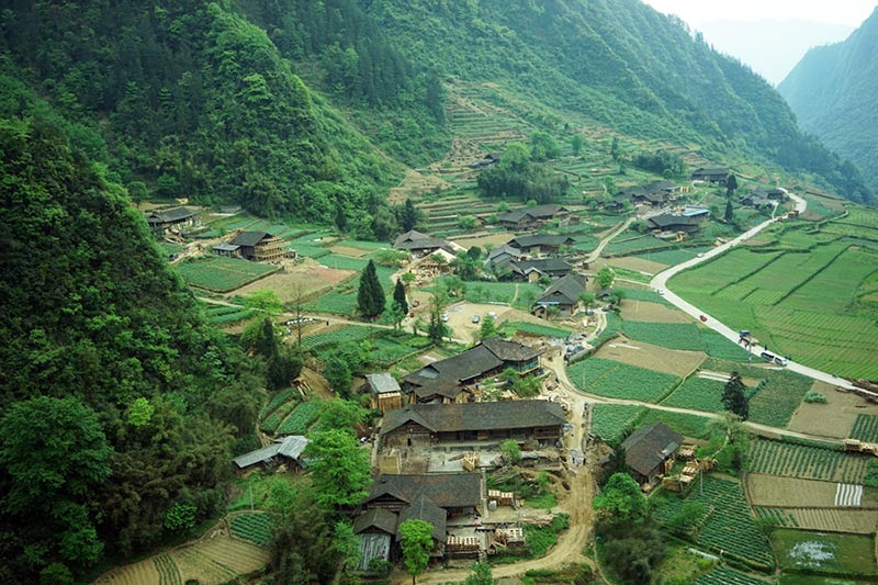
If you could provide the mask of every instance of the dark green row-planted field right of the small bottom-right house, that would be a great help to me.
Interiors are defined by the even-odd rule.
[[[684,504],[691,502],[705,506],[696,543],[714,552],[722,551],[724,556],[754,567],[774,567],[770,542],[756,524],[740,482],[705,475],[698,486],[689,490],[685,499],[677,494],[662,499],[656,506],[655,518],[666,524]]]

